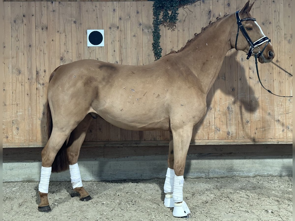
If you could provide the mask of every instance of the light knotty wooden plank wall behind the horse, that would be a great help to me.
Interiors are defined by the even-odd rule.
[[[178,22],[161,27],[163,55],[180,49],[210,20],[244,4],[244,0],[207,0],[180,8]],[[153,62],[152,5],[151,1],[4,2],[3,142],[47,140],[43,109],[50,73],[59,65],[88,58],[125,65]],[[292,73],[291,0],[258,0],[252,14],[271,38],[274,63]],[[86,47],[87,29],[104,29],[105,47]],[[292,77],[276,65],[259,64],[263,84],[274,93],[292,94]],[[227,53],[207,103],[193,140],[292,142],[292,98],[262,89],[254,59],[246,60],[244,52]],[[168,139],[165,131],[127,131],[97,119],[85,141]]]

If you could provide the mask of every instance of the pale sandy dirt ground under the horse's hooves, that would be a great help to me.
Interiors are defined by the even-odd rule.
[[[83,182],[92,200],[79,201],[70,182],[50,182],[50,213],[38,212],[38,183],[3,184],[3,220],[185,220],[163,206],[164,180]],[[291,221],[292,177],[185,179],[194,221]]]

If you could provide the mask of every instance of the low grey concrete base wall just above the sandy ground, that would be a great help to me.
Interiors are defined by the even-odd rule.
[[[78,161],[84,181],[165,178],[167,156],[81,159]],[[39,182],[40,161],[4,161],[3,182]],[[199,156],[187,157],[185,177],[291,176],[291,156]],[[69,171],[52,174],[50,181],[70,181]]]

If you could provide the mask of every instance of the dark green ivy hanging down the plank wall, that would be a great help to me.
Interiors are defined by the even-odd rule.
[[[149,0],[152,1],[152,0]],[[199,0],[153,0],[153,52],[155,60],[162,57],[162,48],[160,47],[160,25],[163,22],[175,23],[178,19],[178,8],[188,4],[192,4]],[[162,17],[160,18],[161,12],[163,11]],[[171,13],[169,13],[169,11]]]

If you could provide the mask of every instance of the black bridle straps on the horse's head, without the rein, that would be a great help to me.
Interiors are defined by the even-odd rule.
[[[247,59],[249,59],[252,55],[257,55],[257,58],[263,53],[264,49],[266,48],[266,46],[268,45],[269,42],[271,42],[271,39],[268,39],[267,36],[263,36],[262,38],[258,39],[255,42],[252,42],[251,38],[249,37],[248,33],[245,30],[244,25],[242,24],[243,21],[256,21],[255,18],[244,18],[241,19],[240,15],[239,15],[240,11],[236,11],[236,19],[237,19],[237,24],[238,24],[238,30],[237,30],[237,37],[236,37],[236,43],[235,43],[235,49],[237,50],[237,40],[238,40],[238,36],[239,36],[239,31],[241,30],[242,34],[244,35],[245,39],[247,40],[247,42],[250,44],[249,47],[249,51],[247,53]],[[258,46],[260,46],[261,44],[263,44],[264,42],[267,42],[266,45],[264,46],[263,50],[260,51],[260,48]],[[254,53],[254,49],[258,48],[258,53]]]

